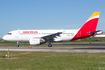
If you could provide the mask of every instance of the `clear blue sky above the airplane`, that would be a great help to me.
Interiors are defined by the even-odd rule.
[[[78,29],[95,11],[105,32],[105,0],[0,0],[0,38],[18,29]]]

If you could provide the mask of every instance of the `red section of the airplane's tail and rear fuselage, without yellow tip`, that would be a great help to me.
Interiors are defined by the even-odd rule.
[[[70,40],[77,40],[77,39],[82,39],[86,38],[89,36],[93,36],[94,34],[89,34],[89,32],[96,31],[97,23],[98,23],[99,18],[94,18],[89,21],[87,21],[77,32],[77,34]]]

